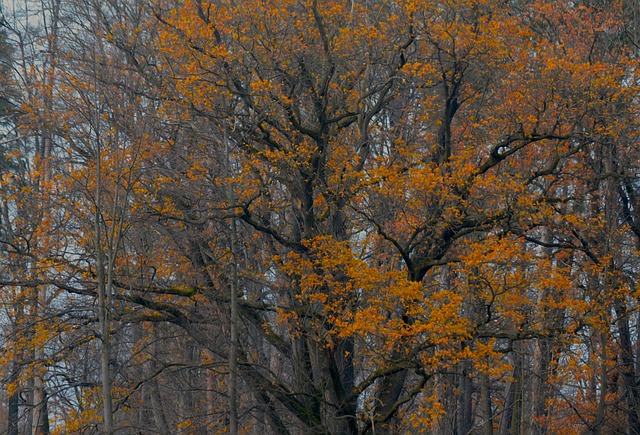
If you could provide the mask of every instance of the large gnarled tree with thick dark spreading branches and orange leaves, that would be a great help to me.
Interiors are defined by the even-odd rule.
[[[539,259],[534,246],[587,250],[582,230],[567,240],[548,217],[571,201],[560,197],[564,180],[580,185],[576,156],[603,140],[588,120],[620,113],[634,92],[623,83],[632,74],[629,53],[612,42],[617,9],[562,2],[157,7],[175,78],[170,102],[235,133],[242,185],[252,186],[238,193],[237,216],[273,246],[267,270],[281,269],[267,288],[290,328],[280,339],[291,350],[270,342],[294,355],[286,363],[294,381],[255,373],[245,361],[249,386],[268,391],[306,430],[393,430],[438,373],[479,370],[479,361],[497,358],[491,339],[519,343],[550,333],[528,325],[548,315],[548,302],[527,290],[566,270],[555,251]],[[541,12],[552,18],[539,20]],[[605,75],[612,70],[617,80]],[[215,131],[208,134],[219,148]],[[570,211],[560,222],[572,220]],[[539,236],[544,228],[550,242]],[[532,257],[519,260],[510,244]],[[486,260],[506,281],[498,286],[476,272],[462,291],[468,269],[452,266],[477,268],[460,259],[488,252],[509,259]],[[534,264],[536,272],[525,273]],[[566,289],[539,291],[554,297]],[[469,295],[475,300],[466,304]],[[268,324],[264,314],[252,316]],[[524,348],[513,351],[520,372]],[[358,365],[355,355],[371,365]],[[518,377],[511,391],[525,388]],[[469,373],[460,379],[471,382]],[[363,401],[370,408],[360,408],[358,423]],[[466,413],[457,427],[469,430],[470,410],[453,407]],[[505,409],[512,415],[505,427],[523,424],[516,408]]]

